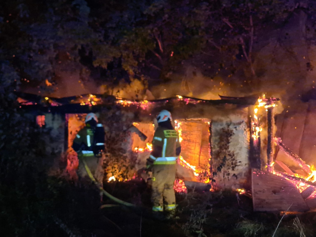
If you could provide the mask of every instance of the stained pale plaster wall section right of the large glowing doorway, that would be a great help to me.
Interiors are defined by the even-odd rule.
[[[235,189],[247,187],[251,183],[250,135],[246,119],[246,116],[231,116],[212,120],[211,171],[216,173],[216,188]]]

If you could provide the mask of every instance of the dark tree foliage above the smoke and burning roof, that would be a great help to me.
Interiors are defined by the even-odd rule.
[[[242,73],[255,81],[260,72],[254,55],[264,32],[282,27],[300,10],[312,21],[315,3],[4,1],[0,55],[17,81],[40,85],[40,90],[73,70],[80,71],[83,82],[94,80],[107,88],[134,79],[147,87],[173,80],[187,61],[210,77],[220,74],[230,82]],[[308,39],[314,28],[308,26]]]

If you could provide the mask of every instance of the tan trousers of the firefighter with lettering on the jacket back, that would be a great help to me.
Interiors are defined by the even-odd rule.
[[[151,201],[153,211],[175,210],[175,194],[173,190],[176,165],[154,165],[152,178]]]

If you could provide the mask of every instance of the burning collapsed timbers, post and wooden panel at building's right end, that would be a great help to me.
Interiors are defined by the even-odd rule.
[[[263,131],[258,118],[258,110],[265,108],[267,112],[268,145],[267,163],[265,171],[252,169],[252,196],[254,210],[258,211],[284,211],[290,206],[290,212],[303,212],[316,209],[316,186],[314,177],[316,172],[313,166],[305,163],[298,155],[293,153],[282,143],[280,137],[273,137],[272,108],[276,106],[276,98],[266,99],[263,95],[254,107],[251,119],[253,143],[258,146],[260,132]],[[270,140],[269,140],[270,139]],[[287,155],[288,159],[296,164],[296,170],[290,169],[282,161],[273,159],[273,146]],[[293,204],[293,205],[292,205]]]

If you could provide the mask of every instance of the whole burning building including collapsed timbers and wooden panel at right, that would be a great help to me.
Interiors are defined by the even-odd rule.
[[[286,210],[290,201],[290,211],[316,207],[313,167],[275,136],[276,98],[221,96],[220,100],[202,100],[177,95],[137,101],[92,94],[61,99],[21,94],[19,102],[21,108],[35,112],[38,125],[49,131],[52,142],[47,154],[67,154],[70,175],[75,175],[71,172],[78,165],[71,143],[86,113],[97,113],[105,126],[109,134],[106,143],[111,144],[107,155],[124,150],[116,163],[107,164],[106,180],[124,181],[145,167],[157,126],[155,115],[167,109],[181,141],[177,191],[252,190],[254,210],[259,211]],[[110,139],[113,132],[120,134],[120,142]],[[124,168],[119,167],[120,159],[129,159]],[[123,175],[122,170],[129,174]]]

